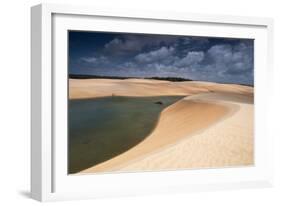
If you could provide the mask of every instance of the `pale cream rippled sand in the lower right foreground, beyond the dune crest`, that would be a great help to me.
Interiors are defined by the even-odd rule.
[[[237,111],[212,127],[186,135],[174,145],[118,169],[149,171],[253,165],[253,105],[241,102],[238,105]]]

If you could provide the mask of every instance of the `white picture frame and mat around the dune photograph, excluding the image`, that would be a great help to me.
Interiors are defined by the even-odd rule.
[[[118,27],[116,21],[120,23]],[[136,23],[138,28],[132,26]],[[153,29],[155,23],[162,25],[158,31]],[[174,29],[165,30],[165,25]],[[273,75],[272,19],[40,4],[31,9],[31,26],[32,198],[53,201],[273,185],[273,136],[266,112],[271,105],[267,90],[270,90]],[[67,73],[65,69],[57,69],[67,67],[66,31],[76,28],[181,34],[186,32],[186,26],[192,26],[189,32],[193,35],[258,40],[255,49],[255,165],[68,177],[65,141],[59,138],[65,135],[65,113],[57,109],[64,107],[67,99]]]

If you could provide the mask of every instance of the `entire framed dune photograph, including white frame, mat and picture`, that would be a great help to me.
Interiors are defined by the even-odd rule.
[[[31,12],[34,199],[272,185],[271,19]]]

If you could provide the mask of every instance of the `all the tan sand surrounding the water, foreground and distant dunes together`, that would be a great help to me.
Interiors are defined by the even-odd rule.
[[[81,171],[150,171],[252,165],[253,87],[147,79],[70,79],[70,99],[106,96],[183,99],[165,108],[139,144]]]

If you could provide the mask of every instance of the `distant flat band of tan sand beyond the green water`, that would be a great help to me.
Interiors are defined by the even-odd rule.
[[[70,79],[69,98],[82,99],[103,96],[192,95],[204,92],[253,94],[253,88],[211,82],[170,82],[147,79]]]

